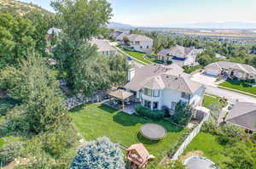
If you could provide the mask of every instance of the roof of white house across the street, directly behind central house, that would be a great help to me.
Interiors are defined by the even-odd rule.
[[[201,49],[193,48],[185,48],[183,46],[176,45],[172,48],[164,48],[158,54],[161,56],[177,56],[177,57],[188,57],[188,55],[192,52],[200,52]]]

